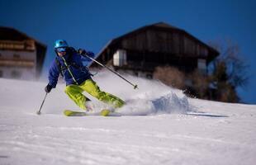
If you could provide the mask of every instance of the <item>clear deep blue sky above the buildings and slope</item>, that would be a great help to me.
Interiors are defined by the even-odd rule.
[[[256,104],[255,8],[254,0],[0,0],[0,26],[12,26],[48,45],[44,71],[54,59],[57,39],[98,53],[108,40],[159,21],[206,43],[232,40],[250,66],[249,86],[239,89],[239,96]]]

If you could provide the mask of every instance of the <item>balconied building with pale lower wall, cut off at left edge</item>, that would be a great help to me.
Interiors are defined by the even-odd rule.
[[[11,27],[0,26],[0,78],[40,76],[46,45]]]

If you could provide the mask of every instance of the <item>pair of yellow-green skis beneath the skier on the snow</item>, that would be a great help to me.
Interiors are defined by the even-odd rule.
[[[121,116],[118,112],[111,112],[110,110],[104,109],[100,112],[82,112],[82,111],[71,111],[64,110],[66,116],[86,116],[86,115],[102,115],[102,116]]]

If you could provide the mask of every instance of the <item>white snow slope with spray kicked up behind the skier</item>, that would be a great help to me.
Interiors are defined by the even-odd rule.
[[[255,105],[188,98],[157,81],[126,78],[139,90],[112,73],[93,78],[127,101],[121,116],[108,117],[64,116],[64,109],[79,111],[64,84],[36,115],[47,82],[0,78],[0,164],[256,163]]]

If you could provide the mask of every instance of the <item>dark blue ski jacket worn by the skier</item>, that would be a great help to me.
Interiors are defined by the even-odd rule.
[[[90,54],[93,58],[94,54]],[[91,61],[86,57],[83,57],[81,54],[78,54],[76,51],[67,52],[62,59],[57,55],[55,60],[59,61],[61,65],[62,73],[64,76],[64,81],[66,85],[76,84],[79,85],[87,79],[91,78],[91,73],[89,73],[88,68],[85,66]],[[58,78],[59,78],[59,66],[56,61],[53,61],[49,69],[49,85],[53,88],[56,87]],[[85,64],[85,65],[83,65]]]

